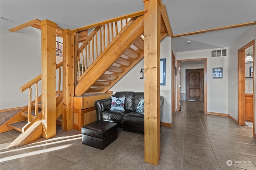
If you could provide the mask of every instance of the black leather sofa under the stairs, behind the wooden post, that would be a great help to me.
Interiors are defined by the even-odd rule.
[[[97,119],[118,123],[118,128],[137,133],[144,133],[144,115],[137,113],[138,103],[144,98],[144,92],[116,92],[112,95],[117,98],[125,98],[124,111],[110,110],[111,97],[97,100],[94,104],[97,111]],[[164,97],[160,96],[160,120],[162,121]]]

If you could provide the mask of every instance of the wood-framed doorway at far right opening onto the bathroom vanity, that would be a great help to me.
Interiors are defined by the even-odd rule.
[[[249,53],[252,52],[252,53]],[[252,60],[246,61],[246,56],[252,54]],[[255,40],[250,41],[238,49],[238,125],[246,125],[252,122],[253,136],[255,134],[255,89],[254,65],[255,65]],[[248,67],[248,69],[247,69]],[[250,123],[249,123],[250,124]]]

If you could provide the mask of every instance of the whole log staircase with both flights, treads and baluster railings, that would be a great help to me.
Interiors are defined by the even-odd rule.
[[[131,14],[130,17],[123,16],[120,20],[114,19],[113,22],[97,23],[92,33],[82,45],[79,45],[80,48],[75,51],[77,56],[75,96],[82,96],[85,93],[108,92],[116,82],[144,58],[144,12]],[[75,31],[76,35],[79,35],[79,32],[82,33],[85,29],[77,30]],[[166,35],[168,35],[168,30],[161,17],[161,40]],[[75,44],[81,43],[78,38],[76,41]],[[56,65],[56,69],[60,70],[61,66],[62,62]],[[60,74],[59,71],[59,77]],[[22,132],[7,148],[26,145],[42,137],[41,96],[37,95],[38,81],[40,80],[41,75],[20,88],[20,92],[23,92],[26,89],[31,90],[31,86],[36,84],[36,99],[31,102],[30,91],[28,106],[0,126],[0,133],[13,129]],[[60,80],[58,87],[60,89]],[[62,92],[58,90],[56,92],[56,119],[62,114],[62,106]]]

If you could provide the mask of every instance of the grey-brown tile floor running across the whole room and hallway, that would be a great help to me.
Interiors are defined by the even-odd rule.
[[[144,162],[144,135],[118,131],[118,139],[99,150],[82,145],[80,131],[58,126],[56,137],[14,149],[5,148],[20,133],[0,134],[0,170],[256,170],[252,128],[205,115],[203,107],[182,101],[172,127],[161,127],[158,166]]]

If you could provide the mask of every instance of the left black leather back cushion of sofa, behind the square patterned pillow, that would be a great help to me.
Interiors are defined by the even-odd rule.
[[[136,108],[134,109],[133,105],[133,98],[134,98],[134,92],[116,92],[114,97],[117,98],[123,98],[125,97],[125,103],[124,103],[124,109],[125,110],[130,110],[130,111],[135,111]],[[139,101],[140,102],[140,101]]]

